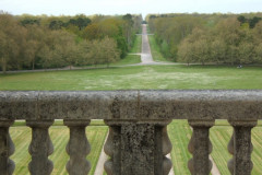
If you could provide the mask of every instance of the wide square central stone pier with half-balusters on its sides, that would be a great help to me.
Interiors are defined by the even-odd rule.
[[[108,175],[167,175],[172,166],[165,155],[171,151],[166,126],[170,120],[106,120],[109,136],[105,152]]]

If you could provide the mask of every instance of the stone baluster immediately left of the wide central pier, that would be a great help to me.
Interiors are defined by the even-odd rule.
[[[70,175],[87,175],[91,170],[91,164],[86,160],[91,145],[85,135],[85,127],[90,125],[90,119],[63,121],[70,129],[70,140],[67,145],[67,152],[70,155],[67,171]]]

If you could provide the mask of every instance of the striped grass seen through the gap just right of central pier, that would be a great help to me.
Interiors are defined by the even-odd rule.
[[[192,131],[187,120],[174,120],[168,125],[168,135],[172,143],[171,159],[176,175],[189,175],[188,161],[191,154],[188,152],[188,143]]]

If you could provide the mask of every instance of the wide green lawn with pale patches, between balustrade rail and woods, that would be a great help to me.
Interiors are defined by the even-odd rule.
[[[133,89],[262,89],[262,69],[215,66],[136,66],[0,74],[0,90]]]

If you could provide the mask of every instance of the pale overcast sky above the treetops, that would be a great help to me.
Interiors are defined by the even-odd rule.
[[[0,0],[11,14],[126,14],[259,12],[262,0]]]

